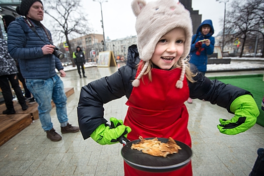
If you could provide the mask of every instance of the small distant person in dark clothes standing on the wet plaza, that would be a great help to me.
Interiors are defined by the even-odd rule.
[[[74,63],[77,65],[80,78],[82,78],[80,67],[82,68],[84,77],[87,77],[85,76],[85,71],[84,71],[85,56],[80,46],[77,46],[76,51],[73,53],[73,58],[74,58]]]

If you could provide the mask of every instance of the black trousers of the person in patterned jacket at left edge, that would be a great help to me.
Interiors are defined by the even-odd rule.
[[[12,88],[14,89],[18,102],[21,106],[24,106],[26,104],[25,98],[23,96],[22,90],[19,86],[18,82],[18,76],[17,74],[9,74],[9,75],[2,75],[0,76],[0,87],[2,89],[2,94],[5,100],[5,104],[7,109],[12,109],[14,108],[13,106],[13,95],[10,89],[10,84],[11,83]]]

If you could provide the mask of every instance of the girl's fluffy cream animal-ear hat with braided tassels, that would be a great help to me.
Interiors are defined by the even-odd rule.
[[[176,83],[176,87],[182,88],[185,75],[183,59],[189,54],[192,37],[192,22],[189,11],[176,0],[158,0],[148,4],[145,0],[134,0],[131,7],[137,17],[137,46],[140,59],[146,62],[141,73],[133,81],[133,86],[139,86],[140,78],[146,71],[160,38],[174,28],[182,28],[186,40],[183,54],[180,57],[181,76]]]

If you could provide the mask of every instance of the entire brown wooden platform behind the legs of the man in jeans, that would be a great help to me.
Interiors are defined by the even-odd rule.
[[[68,97],[74,94],[74,88],[64,88],[65,94]],[[51,102],[52,108],[55,104]],[[18,102],[14,101],[14,108],[16,114],[4,115],[6,105],[0,105],[0,146],[22,131],[24,128],[32,123],[32,120],[39,119],[38,116],[38,104],[28,104],[28,109],[23,111]]]

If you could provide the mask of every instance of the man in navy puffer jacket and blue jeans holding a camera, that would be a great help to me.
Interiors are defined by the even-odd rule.
[[[43,4],[40,0],[22,0],[17,13],[26,18],[17,18],[8,27],[8,49],[12,57],[18,59],[26,85],[38,103],[42,128],[51,141],[61,140],[51,122],[51,100],[56,105],[56,113],[61,133],[78,132],[79,127],[68,123],[67,97],[63,82],[56,74],[64,77],[60,60],[53,54],[50,32],[40,23],[43,20]]]

